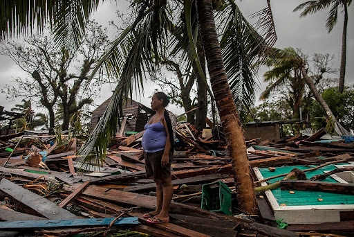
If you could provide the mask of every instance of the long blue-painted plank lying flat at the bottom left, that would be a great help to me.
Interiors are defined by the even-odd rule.
[[[53,229],[71,227],[102,227],[109,226],[115,218],[95,218],[95,219],[58,219],[58,220],[22,220],[11,222],[0,222],[0,229]],[[115,220],[113,226],[139,225],[138,218],[128,217]]]

